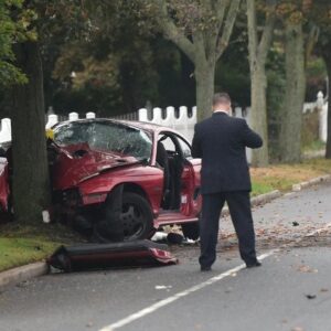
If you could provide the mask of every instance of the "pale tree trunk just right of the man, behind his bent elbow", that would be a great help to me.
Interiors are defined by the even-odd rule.
[[[267,77],[265,64],[259,64],[258,62],[255,63],[255,66],[250,70],[250,126],[264,140],[264,146],[252,152],[252,166],[266,167],[269,163],[269,150],[266,100]]]

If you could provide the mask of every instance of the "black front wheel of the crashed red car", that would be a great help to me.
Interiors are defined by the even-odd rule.
[[[140,194],[124,192],[120,220],[113,220],[114,204],[106,203],[105,217],[94,227],[93,239],[102,243],[149,238],[153,233],[153,215],[148,201]],[[117,214],[118,215],[118,214]]]

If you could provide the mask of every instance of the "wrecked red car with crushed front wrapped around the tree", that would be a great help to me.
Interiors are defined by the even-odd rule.
[[[199,236],[201,160],[192,158],[190,143],[177,131],[110,119],[61,122],[53,131],[53,218],[103,242],[147,238],[166,224],[182,224],[185,236]],[[2,159],[3,210],[6,164]]]

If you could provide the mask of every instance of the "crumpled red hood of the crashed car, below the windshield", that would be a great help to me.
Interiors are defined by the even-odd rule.
[[[140,161],[135,157],[94,150],[87,143],[61,147],[52,166],[53,189],[73,188],[105,171],[137,163]]]

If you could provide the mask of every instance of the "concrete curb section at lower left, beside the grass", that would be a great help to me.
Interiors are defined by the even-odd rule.
[[[45,261],[29,264],[18,268],[0,273],[0,289],[8,285],[15,285],[31,278],[49,273],[49,265]]]

